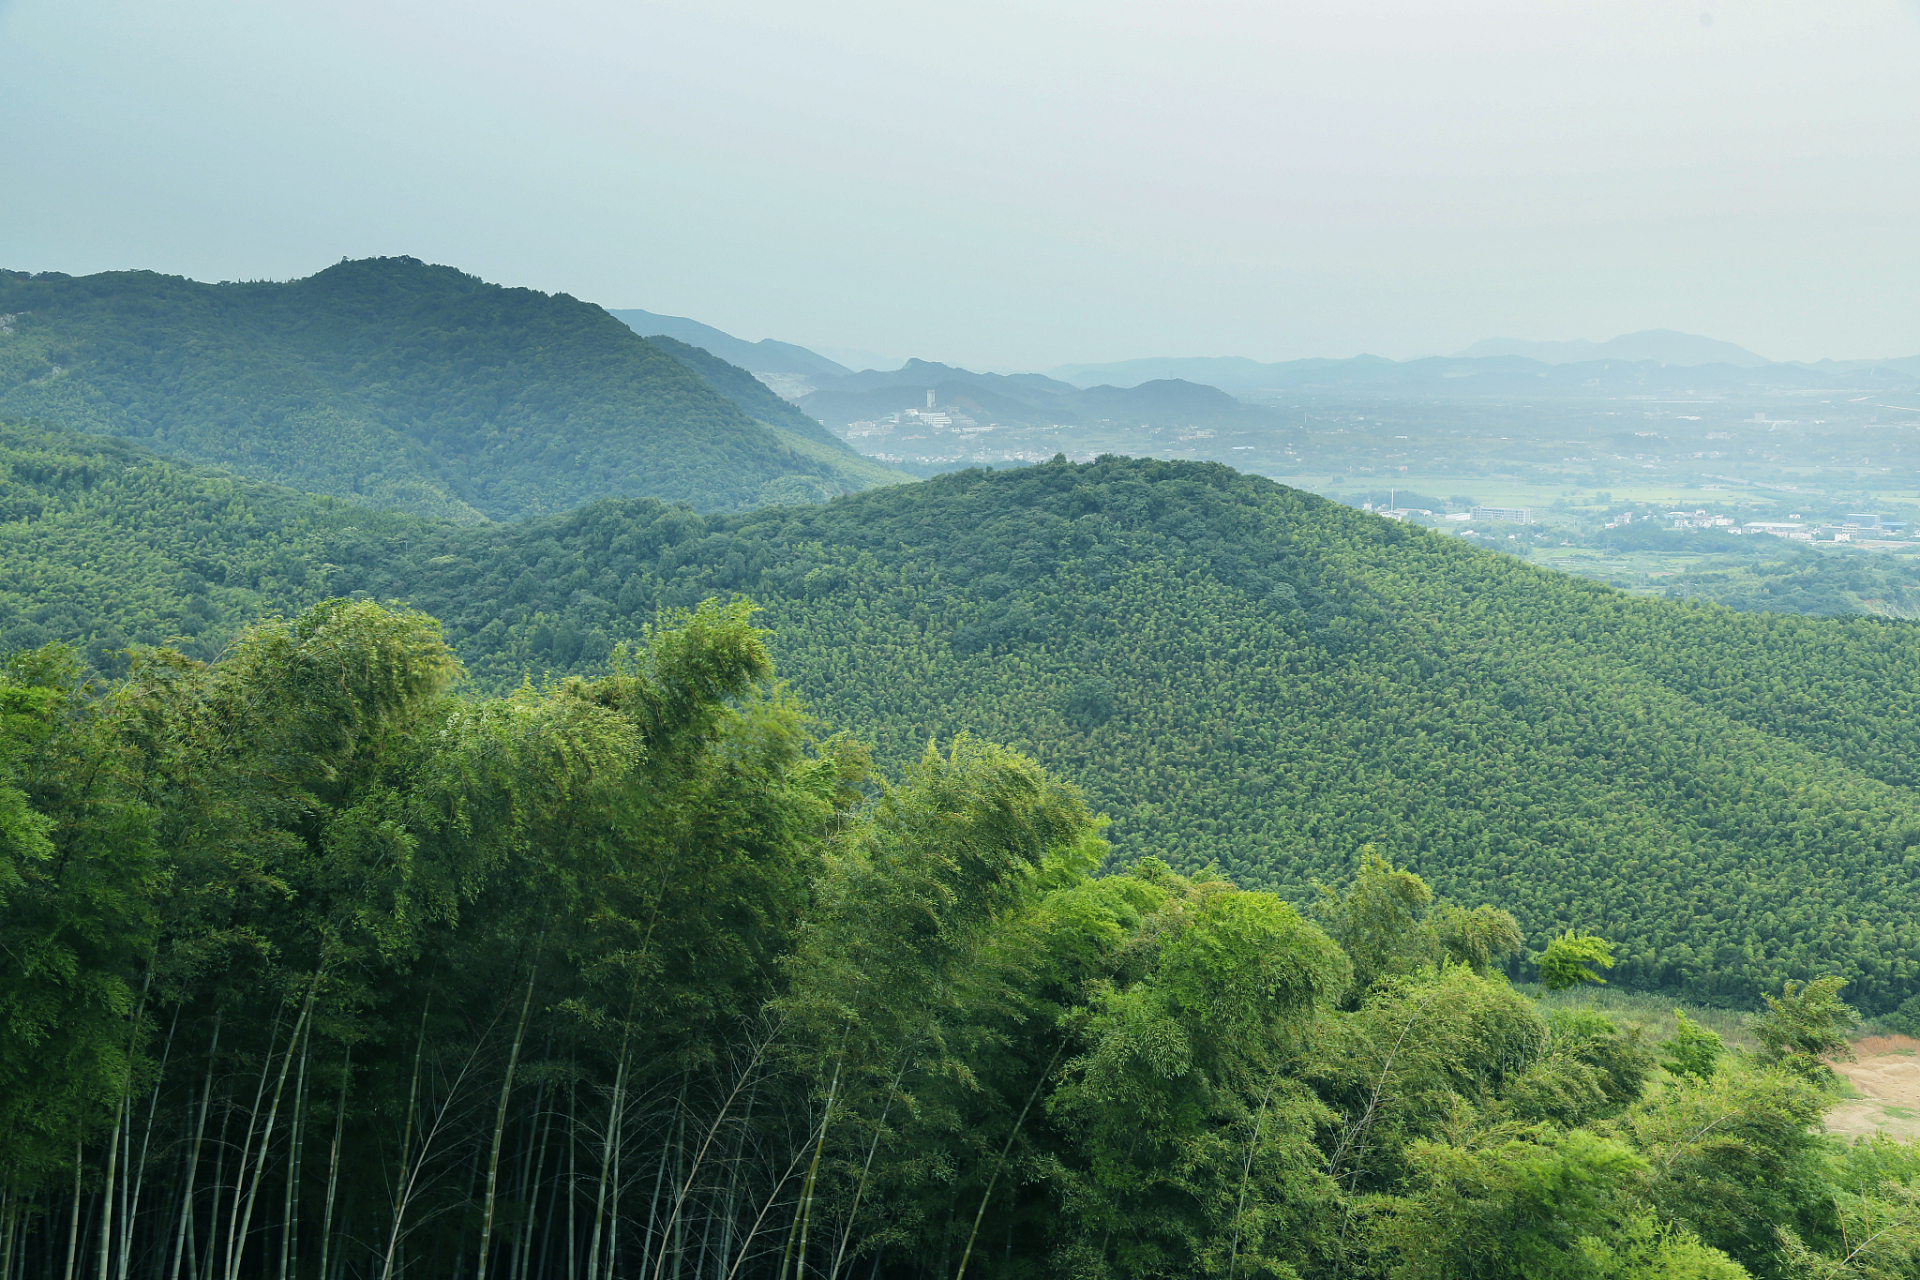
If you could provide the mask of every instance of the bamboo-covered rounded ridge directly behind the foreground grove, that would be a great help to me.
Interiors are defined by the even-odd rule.
[[[13,649],[213,660],[342,595],[440,618],[470,687],[505,693],[599,677],[660,610],[741,597],[879,768],[1006,743],[1112,819],[1110,865],[1308,904],[1373,844],[1528,935],[1607,935],[1636,988],[1749,1007],[1832,973],[1870,1013],[1920,992],[1908,624],[1636,599],[1212,464],[461,528],[0,439]]]

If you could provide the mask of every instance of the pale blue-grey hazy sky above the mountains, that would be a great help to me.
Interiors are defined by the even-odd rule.
[[[0,0],[0,267],[973,367],[1920,353],[1920,0]]]

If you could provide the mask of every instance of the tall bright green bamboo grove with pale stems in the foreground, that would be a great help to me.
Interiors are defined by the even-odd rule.
[[[15,658],[0,1274],[1920,1268],[1920,1151],[1818,1132],[1837,981],[1663,1073],[1377,852],[1304,915],[1094,875],[1002,747],[885,781],[749,614],[499,699],[344,599],[106,687]]]

